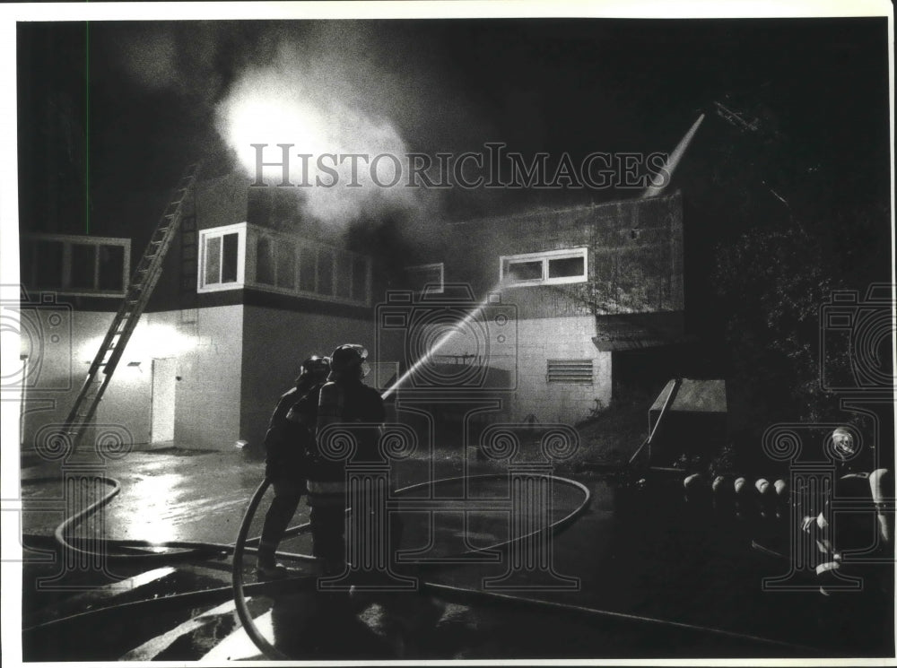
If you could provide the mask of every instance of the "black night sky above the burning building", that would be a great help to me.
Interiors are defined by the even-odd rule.
[[[890,279],[884,18],[20,23],[18,37],[22,230],[83,233],[89,205],[91,233],[140,239],[187,162],[231,169],[215,105],[286,45],[313,89],[351,91],[417,152],[669,152],[705,113],[673,180],[691,299],[718,243],[792,217],[871,254],[858,282]],[[440,213],[635,195],[456,188]],[[873,230],[851,238],[869,212]]]

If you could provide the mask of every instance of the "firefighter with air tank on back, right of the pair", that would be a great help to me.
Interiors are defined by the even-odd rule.
[[[353,462],[375,461],[379,425],[386,420],[379,393],[362,382],[370,370],[367,357],[368,351],[361,345],[347,343],[339,346],[331,357],[328,382],[319,392],[317,438],[310,457],[308,500],[313,553],[321,561],[325,576],[341,575],[346,568],[346,460],[333,455],[325,442],[327,427],[348,428],[356,445],[351,457]],[[353,424],[355,428],[352,428]]]

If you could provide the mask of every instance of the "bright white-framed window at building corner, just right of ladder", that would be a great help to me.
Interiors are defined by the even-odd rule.
[[[202,265],[199,269],[197,291],[236,290],[243,287],[246,223],[200,231],[199,247]],[[256,252],[257,263],[266,262],[266,251],[256,248]]]

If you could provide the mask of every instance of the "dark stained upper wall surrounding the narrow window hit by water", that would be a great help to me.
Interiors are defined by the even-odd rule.
[[[454,226],[447,282],[495,289],[500,256],[588,247],[588,281],[514,291],[521,317],[651,313],[684,308],[682,196],[518,213]]]

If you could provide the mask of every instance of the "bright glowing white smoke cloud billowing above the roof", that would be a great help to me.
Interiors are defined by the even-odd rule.
[[[215,108],[219,134],[236,153],[253,180],[258,177],[258,150],[266,144],[264,162],[278,163],[261,170],[269,186],[282,182],[283,150],[288,150],[289,180],[302,195],[304,213],[335,226],[362,214],[389,208],[421,212],[431,197],[408,183],[406,156],[410,152],[395,124],[372,109],[354,76],[345,76],[344,56],[282,44],[265,65],[245,68]],[[367,82],[376,88],[376,81]],[[373,102],[373,100],[370,100]],[[310,154],[301,159],[300,154]],[[333,154],[336,157],[325,157]],[[340,160],[340,156],[361,154]],[[386,156],[376,159],[377,156]],[[395,160],[388,156],[395,156]],[[322,160],[336,176],[319,169]],[[389,186],[399,175],[400,179]],[[309,184],[305,187],[304,184]],[[350,184],[353,184],[350,186]],[[389,186],[389,187],[388,187]]]

